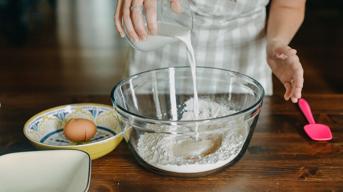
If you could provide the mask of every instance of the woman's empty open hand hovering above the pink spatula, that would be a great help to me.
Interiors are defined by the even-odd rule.
[[[304,70],[296,53],[295,49],[281,41],[271,41],[267,44],[267,62],[286,88],[285,100],[291,98],[294,103],[300,99],[304,83]]]

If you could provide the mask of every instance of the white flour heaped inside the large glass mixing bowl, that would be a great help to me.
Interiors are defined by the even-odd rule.
[[[181,120],[194,120],[193,99],[185,102]],[[209,119],[235,113],[227,105],[199,99],[199,119]],[[138,140],[138,154],[150,165],[171,172],[196,173],[221,167],[232,161],[240,152],[248,135],[246,123],[242,118],[223,122],[220,126],[199,126],[200,139],[197,142],[187,135],[161,133],[145,133]],[[235,128],[230,128],[232,125]],[[211,132],[202,135],[202,131],[210,131],[222,127],[224,132]],[[185,127],[150,125],[156,131],[185,130]],[[194,130],[190,130],[194,133]]]

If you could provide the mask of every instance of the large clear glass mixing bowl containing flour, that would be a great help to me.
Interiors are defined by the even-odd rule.
[[[236,164],[248,148],[264,90],[243,74],[197,67],[199,118],[193,112],[189,67],[146,71],[111,92],[124,138],[152,172],[198,178]]]

